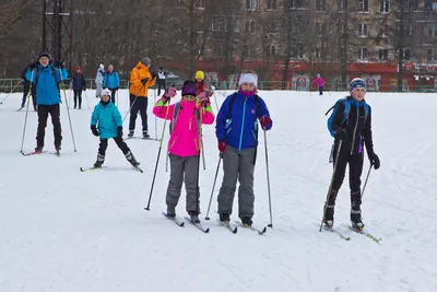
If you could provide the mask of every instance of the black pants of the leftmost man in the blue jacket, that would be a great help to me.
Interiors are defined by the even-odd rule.
[[[47,119],[49,114],[51,117],[51,124],[54,125],[55,148],[58,149],[61,147],[62,141],[59,104],[38,105],[38,129],[36,133],[36,145],[38,148],[44,147],[44,137],[46,136]]]

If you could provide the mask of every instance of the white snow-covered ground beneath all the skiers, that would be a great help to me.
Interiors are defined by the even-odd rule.
[[[379,245],[347,229],[347,179],[338,199],[335,226],[351,241],[318,231],[332,170],[324,112],[344,93],[326,93],[321,98],[308,92],[260,92],[274,119],[268,133],[274,229],[265,236],[248,230],[234,235],[217,225],[222,172],[212,220],[204,221],[210,234],[189,224],[180,229],[164,219],[165,155],[161,156],[152,210],[144,211],[157,141],[128,140],[144,174],[129,167],[114,142],[107,152],[107,170],[81,173],[80,166],[94,163],[98,147],[88,125],[98,100],[92,91],[86,94],[91,109],[86,100],[81,110],[70,109],[78,152],[62,104],[61,157],[21,155],[25,112],[15,112],[21,95],[12,94],[0,105],[0,291],[437,291],[435,94],[367,96],[381,168],[370,174],[363,217],[368,231],[382,237]],[[221,103],[224,93],[216,96]],[[4,97],[0,94],[0,101]],[[125,115],[127,92],[121,91],[119,98]],[[29,112],[25,151],[35,147],[36,121],[36,113]],[[154,138],[154,117],[149,121]],[[158,135],[162,126],[158,120]],[[128,120],[125,132],[127,128]],[[138,119],[137,135],[140,128]],[[262,136],[260,141],[257,226],[269,223]],[[218,161],[213,126],[204,127],[204,143],[202,215]],[[46,150],[52,150],[50,124]],[[185,195],[179,205],[184,215]]]

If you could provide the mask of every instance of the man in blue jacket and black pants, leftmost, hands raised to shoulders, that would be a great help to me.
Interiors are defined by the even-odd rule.
[[[48,115],[51,116],[55,133],[55,149],[61,149],[61,121],[60,121],[60,93],[59,82],[67,78],[67,71],[57,69],[52,65],[52,57],[48,52],[40,52],[38,61],[29,66],[26,79],[35,84],[36,104],[38,106],[38,130],[36,133],[35,152],[39,153],[44,148],[44,137]]]

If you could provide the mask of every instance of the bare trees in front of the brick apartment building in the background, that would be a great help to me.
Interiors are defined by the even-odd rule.
[[[40,50],[43,1],[0,0],[1,77],[16,77]],[[261,79],[285,82],[293,61],[305,61],[307,73],[346,83],[351,62],[392,61],[401,86],[405,60],[428,60],[432,49],[437,61],[437,26],[427,26],[437,21],[437,11],[427,0],[71,2],[72,63],[90,73],[101,62],[127,73],[150,56],[182,77],[192,75],[201,61],[227,79],[257,60]],[[421,49],[424,45],[428,49]]]

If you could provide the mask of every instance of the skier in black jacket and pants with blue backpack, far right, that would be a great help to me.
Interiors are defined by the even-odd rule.
[[[366,94],[366,83],[364,80],[359,78],[352,80],[350,92],[351,96],[340,100],[335,104],[335,114],[331,126],[332,131],[335,132],[334,147],[331,153],[334,163],[334,174],[324,209],[323,222],[328,227],[332,227],[333,225],[335,198],[343,184],[346,165],[349,164],[351,222],[353,227],[363,230],[361,176],[363,173],[364,144],[366,144],[368,159],[375,170],[379,168],[380,163],[378,155],[374,152],[371,108],[364,100]],[[346,105],[346,103],[349,104]],[[345,113],[346,106],[349,106],[347,113]],[[346,116],[344,116],[345,114]]]

